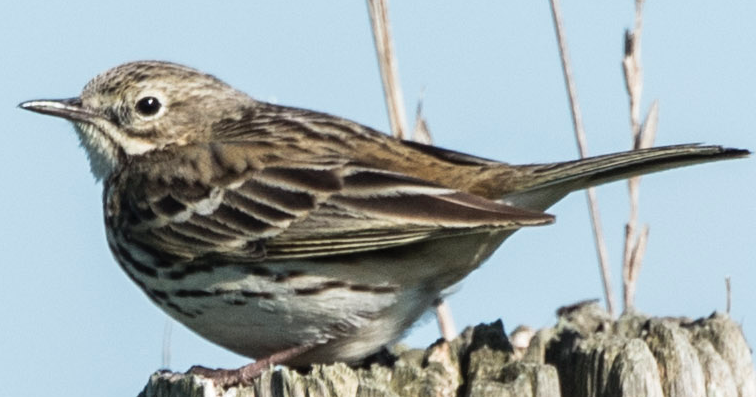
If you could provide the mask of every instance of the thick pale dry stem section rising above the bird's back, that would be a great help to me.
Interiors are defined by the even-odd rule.
[[[407,131],[407,119],[404,114],[404,98],[399,84],[394,44],[391,40],[388,0],[367,0],[367,3],[375,51],[381,69],[383,93],[386,97],[386,109],[391,123],[391,132],[395,137],[404,139],[405,131]]]

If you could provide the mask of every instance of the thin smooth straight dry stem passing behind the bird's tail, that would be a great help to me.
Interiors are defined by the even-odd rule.
[[[564,26],[562,24],[562,13],[559,7],[558,0],[551,0],[551,15],[554,19],[554,27],[556,28],[557,42],[559,43],[559,54],[562,59],[562,72],[564,73],[565,85],[567,86],[567,94],[570,100],[570,110],[572,113],[572,124],[575,131],[575,139],[577,140],[578,149],[580,151],[580,157],[586,157],[588,155],[587,143],[585,138],[585,131],[583,129],[583,121],[580,115],[580,106],[577,100],[577,91],[575,89],[575,83],[572,78],[572,69],[570,67],[570,60],[567,51],[567,42],[564,38]],[[591,224],[593,226],[593,237],[596,240],[596,252],[599,259],[599,267],[601,270],[601,279],[604,284],[604,297],[606,299],[606,308],[610,316],[614,316],[614,293],[612,292],[611,275],[609,272],[609,257],[606,252],[606,243],[604,242],[604,233],[601,229],[601,219],[598,211],[598,204],[596,200],[596,192],[594,189],[586,190],[586,197],[588,198],[588,207],[591,214]]]

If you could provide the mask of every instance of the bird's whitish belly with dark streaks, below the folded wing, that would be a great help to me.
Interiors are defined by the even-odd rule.
[[[259,359],[314,345],[287,364],[354,363],[401,338],[444,288],[505,237],[457,237],[321,260],[189,263],[148,274],[138,269],[150,261],[138,247],[129,247],[131,260],[116,257],[168,314],[229,350]]]

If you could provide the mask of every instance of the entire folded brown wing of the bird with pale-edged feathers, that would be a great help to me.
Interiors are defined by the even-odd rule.
[[[150,172],[134,167],[122,192],[124,225],[157,252],[238,262],[375,250],[553,221],[353,161],[266,157],[266,149],[225,142],[166,156],[181,159],[163,164],[181,171],[170,180],[154,164]]]

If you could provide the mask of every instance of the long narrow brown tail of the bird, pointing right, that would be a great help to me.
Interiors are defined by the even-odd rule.
[[[502,201],[521,208],[545,210],[568,193],[620,179],[710,161],[746,157],[748,150],[701,146],[662,146],[556,164],[522,166],[521,180],[511,183]],[[518,178],[519,179],[519,178]]]

